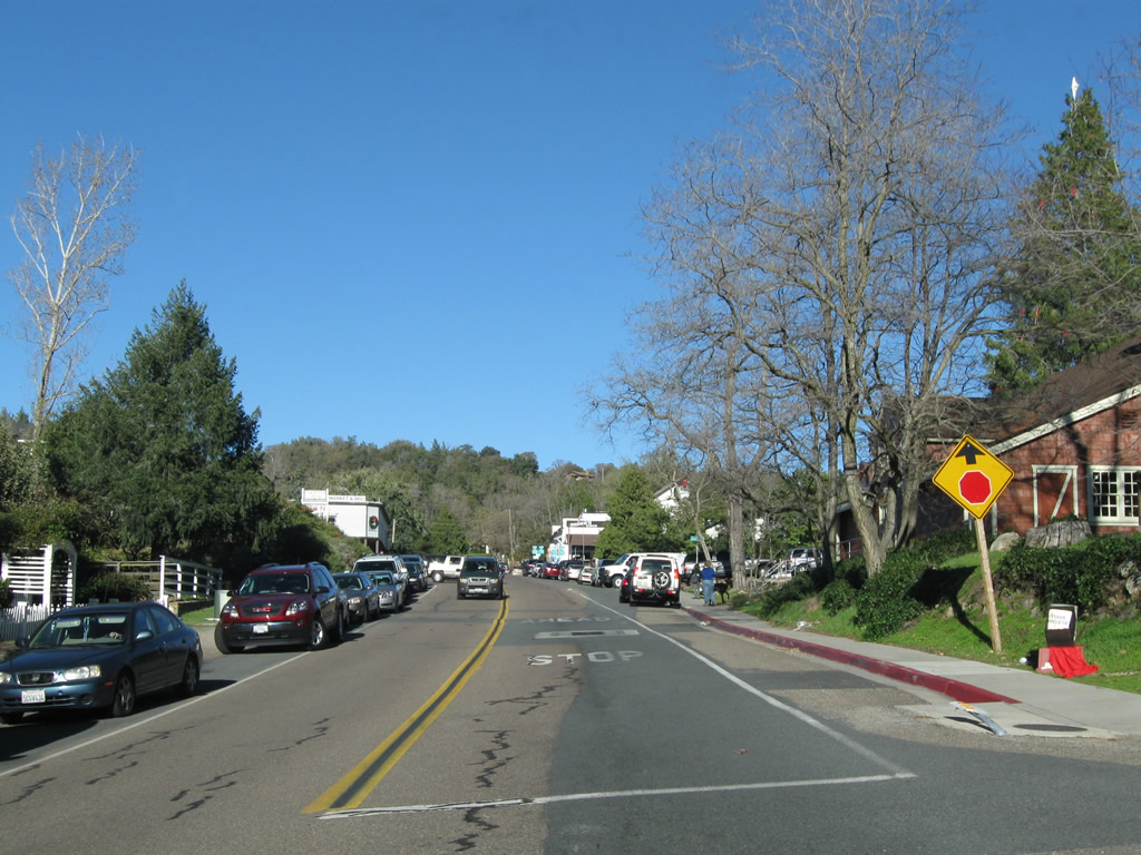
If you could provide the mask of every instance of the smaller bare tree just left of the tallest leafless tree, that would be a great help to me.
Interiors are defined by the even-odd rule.
[[[743,344],[753,314],[736,267],[742,235],[709,196],[719,169],[714,150],[695,148],[674,166],[673,186],[646,206],[653,268],[666,295],[631,317],[640,347],[616,358],[591,405],[604,424],[642,423],[647,439],[674,449],[725,498],[730,563],[742,585],[744,508],[764,461],[759,415],[767,391],[760,363]],[[697,494],[691,510],[699,515]]]

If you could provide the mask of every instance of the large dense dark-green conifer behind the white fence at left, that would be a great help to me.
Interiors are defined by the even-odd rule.
[[[236,370],[184,283],[135,332],[124,360],[52,425],[55,481],[108,512],[110,545],[224,563],[270,532],[277,504]]]

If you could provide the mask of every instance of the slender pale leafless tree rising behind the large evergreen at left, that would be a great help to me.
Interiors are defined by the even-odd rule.
[[[110,306],[107,277],[122,272],[135,239],[130,201],[138,153],[79,137],[58,158],[42,144],[11,228],[24,261],[8,278],[24,302],[16,337],[32,348],[33,439],[74,390],[86,333]]]

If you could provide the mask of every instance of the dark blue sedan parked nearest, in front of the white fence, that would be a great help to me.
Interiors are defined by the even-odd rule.
[[[201,671],[199,634],[159,603],[64,609],[0,661],[0,720],[42,710],[128,716],[149,692],[194,694]]]

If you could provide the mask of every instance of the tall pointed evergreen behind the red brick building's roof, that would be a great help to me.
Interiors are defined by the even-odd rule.
[[[1067,98],[1062,131],[1018,209],[1015,262],[1002,279],[1008,328],[989,342],[989,383],[1025,391],[1136,332],[1141,242],[1101,109]]]

